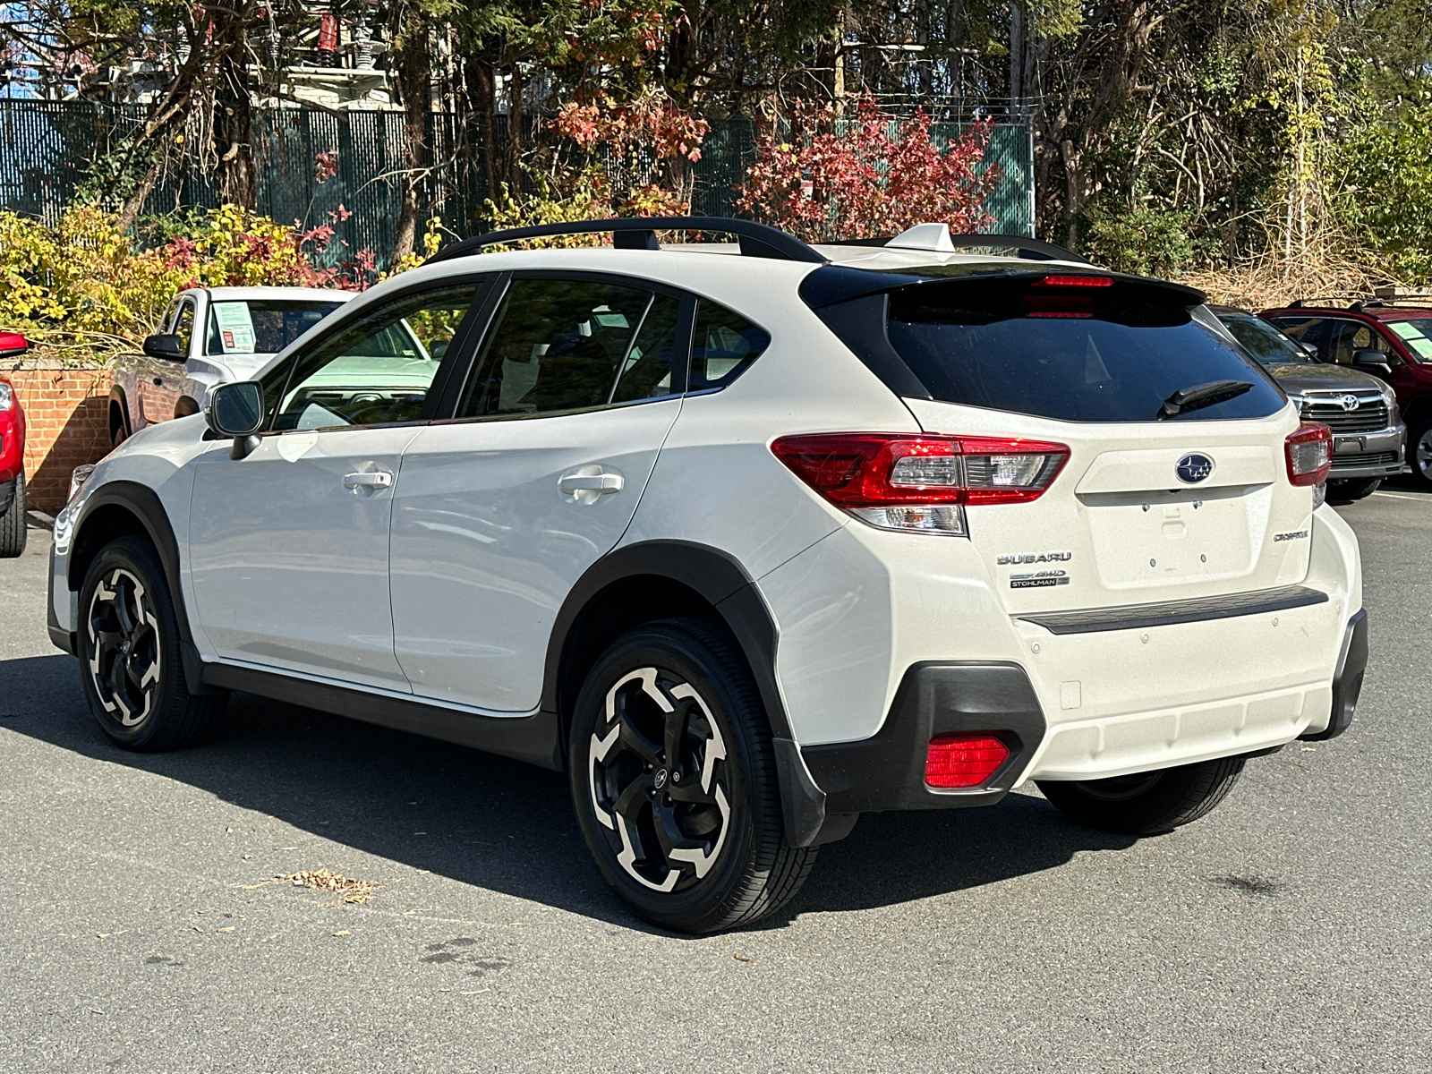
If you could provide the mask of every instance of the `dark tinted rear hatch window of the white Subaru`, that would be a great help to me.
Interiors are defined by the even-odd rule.
[[[1176,392],[1249,388],[1171,421],[1262,418],[1283,394],[1158,285],[961,281],[891,294],[888,337],[937,400],[1060,421],[1156,421]]]

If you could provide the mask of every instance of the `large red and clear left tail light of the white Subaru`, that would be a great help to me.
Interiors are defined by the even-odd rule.
[[[823,495],[885,530],[964,534],[965,504],[1037,500],[1068,461],[1064,444],[990,437],[819,432],[782,437],[776,458]]]

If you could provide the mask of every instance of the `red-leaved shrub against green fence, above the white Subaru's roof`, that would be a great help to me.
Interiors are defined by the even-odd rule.
[[[916,109],[898,119],[858,99],[838,120],[829,106],[796,102],[786,123],[762,125],[737,208],[808,242],[896,235],[915,223],[955,233],[990,231],[985,199],[1000,182],[987,163],[988,123],[937,145]]]

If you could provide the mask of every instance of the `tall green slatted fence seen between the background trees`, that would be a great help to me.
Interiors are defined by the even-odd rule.
[[[0,100],[0,206],[54,223],[73,203],[96,163],[115,159],[143,125],[142,106],[93,102]],[[470,235],[483,228],[487,169],[474,132],[460,117],[431,113],[432,172],[421,190],[422,216]],[[498,152],[508,142],[498,116]],[[935,123],[937,140],[957,136],[962,123]],[[538,135],[527,132],[528,145]],[[712,125],[695,165],[692,212],[736,215],[736,190],[755,159],[756,127],[748,119]],[[385,265],[398,228],[405,127],[401,112],[274,109],[255,116],[253,158],[259,168],[258,211],[301,228],[329,225],[328,258],[341,262],[368,249]],[[324,155],[321,160],[321,155]],[[328,156],[331,155],[331,156]],[[1034,173],[1030,130],[994,125],[985,159],[1001,179],[987,208],[1001,233],[1034,233]],[[99,176],[102,179],[102,176]],[[213,186],[198,163],[170,169],[145,203],[146,215],[216,205]]]

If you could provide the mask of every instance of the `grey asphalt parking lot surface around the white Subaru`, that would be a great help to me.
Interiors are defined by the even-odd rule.
[[[0,561],[0,1070],[1426,1071],[1432,497],[1339,508],[1372,662],[1343,737],[1134,842],[1035,792],[861,819],[790,911],[683,938],[566,779],[236,696],[130,755]],[[278,884],[329,869],[369,902]]]

